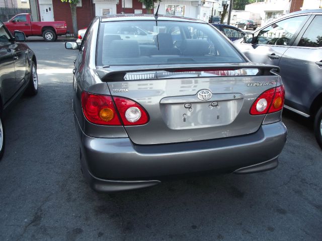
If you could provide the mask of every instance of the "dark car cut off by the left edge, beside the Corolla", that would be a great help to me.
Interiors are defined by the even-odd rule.
[[[24,43],[23,32],[11,35],[0,22],[0,158],[5,150],[3,118],[12,104],[23,94],[38,92],[37,61],[34,52]]]

